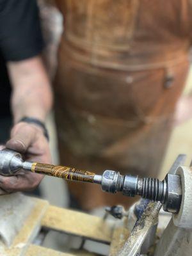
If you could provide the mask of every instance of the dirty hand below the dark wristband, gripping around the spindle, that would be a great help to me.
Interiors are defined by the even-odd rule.
[[[6,148],[20,152],[25,160],[38,163],[51,163],[49,143],[40,127],[20,122],[11,132]],[[16,191],[31,191],[40,184],[44,175],[20,170],[17,175],[0,175],[0,195]]]

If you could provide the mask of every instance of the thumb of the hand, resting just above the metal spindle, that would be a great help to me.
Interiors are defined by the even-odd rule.
[[[11,138],[6,143],[6,148],[24,153],[35,141],[35,129],[32,125],[20,122],[11,131]]]

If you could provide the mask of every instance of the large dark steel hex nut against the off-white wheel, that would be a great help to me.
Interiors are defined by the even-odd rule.
[[[166,212],[177,213],[180,209],[182,198],[181,181],[179,175],[167,174],[166,180],[166,198],[163,209]]]

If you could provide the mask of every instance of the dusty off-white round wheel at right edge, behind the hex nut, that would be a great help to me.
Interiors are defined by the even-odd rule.
[[[173,223],[177,227],[192,228],[192,167],[180,166],[176,174],[181,179],[182,200],[178,214],[173,214]]]

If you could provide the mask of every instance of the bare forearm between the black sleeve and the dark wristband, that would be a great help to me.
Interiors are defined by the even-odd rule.
[[[24,116],[44,122],[51,109],[52,92],[40,56],[23,61],[8,61],[7,67],[13,88],[11,106],[14,123]]]

